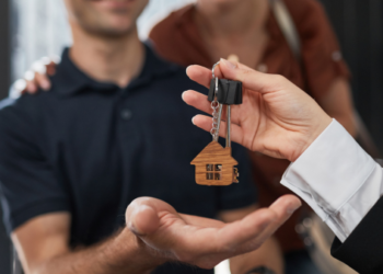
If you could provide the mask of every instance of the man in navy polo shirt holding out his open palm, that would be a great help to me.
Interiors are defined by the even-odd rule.
[[[138,39],[147,2],[67,0],[73,46],[51,91],[0,112],[1,201],[25,272],[211,273],[247,253],[232,260],[233,273],[282,273],[274,241],[251,251],[300,202],[253,213],[246,164],[240,184],[194,183],[189,161],[211,137],[185,123],[195,113],[179,91],[200,87]],[[245,151],[233,151],[244,163]]]

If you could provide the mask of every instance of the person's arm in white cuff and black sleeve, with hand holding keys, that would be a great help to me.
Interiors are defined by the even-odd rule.
[[[339,123],[283,77],[263,75],[222,60],[218,75],[243,81],[244,103],[232,110],[232,139],[292,164],[281,183],[300,195],[337,236],[333,255],[360,273],[383,272],[383,170]],[[190,67],[201,84],[210,71]],[[186,103],[208,111],[206,96],[183,94]],[[208,129],[208,118],[193,122]],[[221,126],[221,134],[225,124]]]

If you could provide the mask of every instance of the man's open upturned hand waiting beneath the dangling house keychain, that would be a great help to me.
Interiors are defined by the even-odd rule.
[[[135,199],[127,208],[127,227],[153,255],[212,269],[221,261],[258,249],[301,206],[287,195],[269,208],[224,224],[178,214],[156,198]]]

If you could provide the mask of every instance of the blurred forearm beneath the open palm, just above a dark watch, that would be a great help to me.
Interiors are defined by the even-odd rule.
[[[230,259],[232,274],[245,274],[259,266],[272,270],[276,274],[283,273],[283,258],[275,238],[268,239],[258,250]]]

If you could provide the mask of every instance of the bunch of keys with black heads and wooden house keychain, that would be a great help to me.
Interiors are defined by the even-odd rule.
[[[196,183],[201,185],[230,185],[239,183],[237,162],[231,156],[230,123],[231,105],[242,104],[242,82],[218,79],[214,76],[217,62],[212,67],[212,79],[208,100],[211,102],[212,141],[192,161],[196,167]],[[219,142],[219,130],[223,105],[227,105],[227,146]]]

